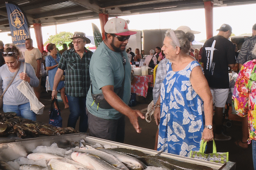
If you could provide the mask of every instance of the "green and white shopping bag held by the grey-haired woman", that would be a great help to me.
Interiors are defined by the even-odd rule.
[[[207,142],[204,142],[204,140],[202,140],[202,142],[200,144],[199,152],[191,150],[189,157],[190,158],[195,158],[195,159],[201,159],[201,160],[204,160],[204,161],[217,162],[217,163],[221,163],[221,164],[224,164],[227,161],[229,161],[228,152],[217,153],[216,144],[215,144],[214,140],[213,140],[212,153],[204,153],[206,144],[207,144]]]

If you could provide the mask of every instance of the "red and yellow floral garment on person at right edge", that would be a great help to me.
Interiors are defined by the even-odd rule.
[[[249,139],[256,140],[256,59],[245,62],[241,67],[233,92],[236,114],[248,116]]]

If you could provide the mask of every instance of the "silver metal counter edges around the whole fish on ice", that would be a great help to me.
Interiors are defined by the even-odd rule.
[[[180,161],[181,164],[194,164],[195,166],[202,167],[207,166],[213,170],[235,170],[236,163],[228,161],[226,164],[220,164],[215,162],[203,161],[198,159],[193,159],[184,156],[178,156],[170,153],[159,153],[156,150],[151,150],[143,147],[137,147],[129,144],[123,144],[119,142],[113,142],[105,139],[99,139],[92,136],[88,136],[87,133],[73,133],[64,134],[59,136],[44,136],[30,139],[17,139],[15,142],[7,142],[0,144],[0,161],[8,162],[18,159],[20,157],[27,157],[29,153],[32,153],[38,146],[49,147],[52,144],[57,144],[59,148],[75,148],[74,145],[81,143],[79,141],[84,141],[86,145],[100,144],[106,148],[107,147],[120,147],[130,150],[137,150],[147,155],[163,156],[165,158],[174,159]],[[77,147],[76,147],[77,148]],[[70,149],[71,150],[71,149]],[[77,149],[73,151],[79,151],[82,149]],[[104,151],[104,150],[103,150]],[[73,153],[72,153],[73,156]],[[178,168],[175,168],[178,169]],[[184,170],[184,168],[182,168]],[[189,169],[190,170],[190,169]],[[193,169],[195,170],[195,169]],[[198,169],[199,170],[199,169]],[[202,168],[200,169],[202,170]]]

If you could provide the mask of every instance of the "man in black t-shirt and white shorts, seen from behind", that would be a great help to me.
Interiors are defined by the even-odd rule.
[[[232,33],[230,25],[223,24],[217,36],[208,39],[203,46],[201,62],[204,63],[204,75],[208,81],[215,105],[215,136],[216,141],[230,140],[230,136],[222,133],[223,108],[226,105],[229,93],[228,70],[235,66],[235,49],[228,40]]]

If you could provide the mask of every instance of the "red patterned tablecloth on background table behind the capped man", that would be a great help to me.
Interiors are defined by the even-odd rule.
[[[138,96],[146,97],[148,94],[149,84],[153,84],[153,75],[136,76],[131,82],[131,93],[135,93]]]

